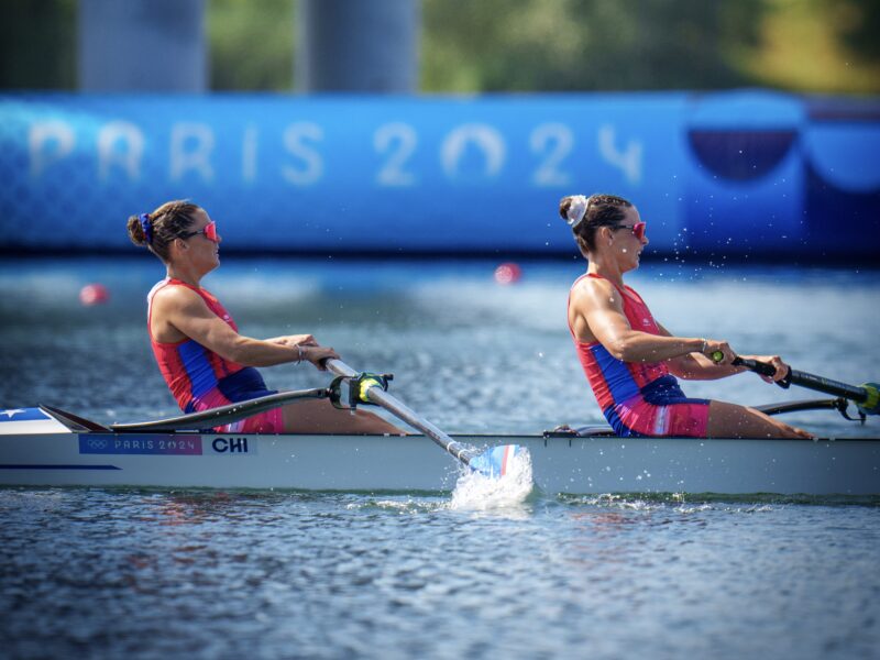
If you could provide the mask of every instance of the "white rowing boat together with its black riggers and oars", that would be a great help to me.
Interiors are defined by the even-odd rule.
[[[743,363],[759,372],[772,369]],[[519,461],[530,463],[534,484],[548,494],[880,495],[876,438],[617,438],[607,427],[452,438],[388,394],[389,374],[359,373],[337,359],[324,366],[337,374],[326,388],[280,392],[146,422],[107,427],[51,406],[6,410],[0,413],[0,485],[450,491],[463,474],[502,479]],[[836,409],[853,419],[847,410],[856,402],[862,422],[878,414],[873,383],[856,387],[795,370],[789,380],[838,398],[759,409],[768,415]],[[308,398],[348,409],[382,406],[424,436],[211,430]]]

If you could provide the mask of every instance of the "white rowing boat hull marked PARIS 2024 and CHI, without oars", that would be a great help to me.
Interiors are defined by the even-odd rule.
[[[2,485],[448,492],[464,470],[422,436],[113,431],[43,408],[0,419]],[[527,449],[546,494],[880,495],[880,439],[616,438],[595,428],[455,441]]]

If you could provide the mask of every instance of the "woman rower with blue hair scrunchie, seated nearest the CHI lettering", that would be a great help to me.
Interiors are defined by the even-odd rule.
[[[152,213],[132,216],[129,238],[164,264],[165,279],[147,296],[147,331],[160,371],[180,409],[194,413],[267,394],[256,366],[338,358],[311,334],[258,340],[238,327],[200,282],[220,265],[217,224],[200,207],[169,201]],[[330,402],[306,400],[218,427],[237,433],[395,433],[402,431],[372,413],[355,415]]]

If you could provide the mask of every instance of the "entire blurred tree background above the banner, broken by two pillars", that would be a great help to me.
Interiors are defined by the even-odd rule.
[[[123,0],[124,1],[124,0]],[[292,91],[296,0],[208,0],[210,87]],[[880,91],[878,0],[421,0],[420,91]],[[76,89],[76,0],[0,0],[0,87]]]

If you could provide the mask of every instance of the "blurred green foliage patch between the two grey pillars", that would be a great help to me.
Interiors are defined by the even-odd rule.
[[[208,0],[211,89],[294,89],[293,0]]]

